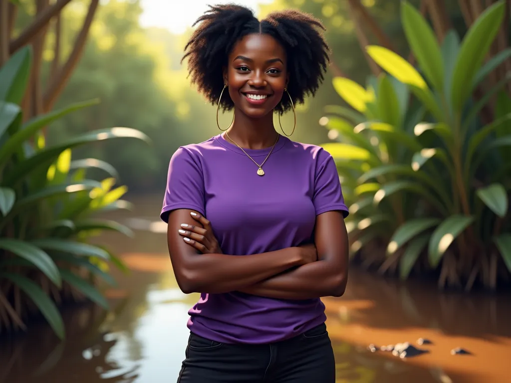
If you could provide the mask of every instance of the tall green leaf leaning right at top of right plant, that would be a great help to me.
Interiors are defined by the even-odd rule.
[[[459,49],[452,82],[452,104],[460,111],[472,92],[474,78],[504,18],[505,2],[486,8],[473,23]]]

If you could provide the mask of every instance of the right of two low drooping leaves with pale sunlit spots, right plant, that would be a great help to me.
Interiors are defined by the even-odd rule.
[[[445,251],[473,221],[473,217],[454,215],[438,225],[429,241],[428,257],[432,267],[438,266]]]

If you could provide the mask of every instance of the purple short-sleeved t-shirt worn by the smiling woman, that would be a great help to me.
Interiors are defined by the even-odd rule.
[[[270,148],[245,151],[258,163]],[[263,165],[219,134],[179,148],[169,165],[161,219],[193,209],[211,221],[224,254],[250,255],[314,240],[316,216],[348,209],[332,156],[280,136]],[[176,227],[176,230],[178,228]],[[222,343],[265,344],[294,337],[326,320],[319,298],[285,300],[240,292],[201,294],[188,327]]]

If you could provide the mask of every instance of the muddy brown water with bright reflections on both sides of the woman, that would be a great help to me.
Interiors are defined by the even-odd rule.
[[[159,196],[136,201],[134,213],[114,217],[138,229],[135,238],[103,238],[132,270],[115,273],[119,286],[106,290],[111,310],[64,310],[65,342],[44,322],[26,336],[0,339],[0,383],[176,381],[188,340],[187,312],[198,296],[177,288],[158,210]],[[434,284],[401,284],[353,269],[345,295],[324,302],[339,383],[511,381],[509,296],[439,294]],[[418,346],[421,337],[433,343]],[[399,342],[429,352],[402,360],[367,350],[370,343]],[[471,354],[451,355],[455,347]]]

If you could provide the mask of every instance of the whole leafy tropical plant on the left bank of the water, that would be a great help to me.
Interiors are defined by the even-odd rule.
[[[126,187],[113,188],[115,170],[93,158],[72,161],[71,150],[110,138],[148,138],[135,129],[116,127],[45,146],[39,134],[43,127],[97,102],[71,105],[22,123],[19,105],[30,76],[31,53],[26,46],[0,68],[0,330],[25,328],[22,319],[37,308],[63,338],[54,301],[79,293],[106,307],[94,286],[96,278],[114,283],[109,264],[125,270],[117,257],[88,244],[87,238],[102,230],[131,235],[125,226],[94,217],[99,211],[129,208],[120,200]],[[101,182],[87,179],[92,167],[109,177]]]

